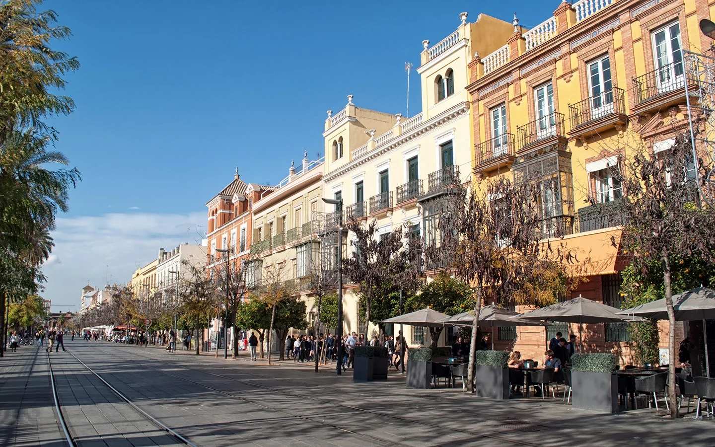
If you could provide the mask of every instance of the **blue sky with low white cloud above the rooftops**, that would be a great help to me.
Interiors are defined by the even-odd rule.
[[[558,1],[47,0],[74,36],[77,102],[51,119],[82,172],[45,267],[54,310],[89,280],[126,282],[158,248],[195,242],[204,203],[232,180],[275,184],[304,150],[322,155],[327,109],[405,114],[405,62],[480,12],[524,26]],[[531,19],[533,17],[533,19]],[[420,112],[413,72],[410,115]],[[110,278],[111,277],[111,278]]]

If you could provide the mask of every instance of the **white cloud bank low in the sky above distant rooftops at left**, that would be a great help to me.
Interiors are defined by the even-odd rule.
[[[82,288],[88,280],[102,287],[107,266],[113,283],[127,283],[137,267],[154,260],[159,247],[200,244],[198,226],[206,228],[205,212],[60,217],[52,232],[54,250],[42,269],[47,277],[42,295],[52,300],[53,311],[79,310]]]

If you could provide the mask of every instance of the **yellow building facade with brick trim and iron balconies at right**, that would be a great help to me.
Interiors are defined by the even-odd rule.
[[[541,179],[543,235],[566,233],[558,243],[579,254],[588,279],[572,297],[623,305],[624,262],[611,244],[620,236],[621,190],[608,167],[619,154],[668,150],[676,134],[687,132],[681,51],[709,46],[698,23],[711,17],[712,4],[563,2],[528,31],[515,14],[513,33],[502,46],[473,54],[468,63],[475,180]],[[553,325],[546,333],[502,328],[497,345],[537,359],[556,330],[581,331],[595,348],[630,360],[628,334],[618,324]]]

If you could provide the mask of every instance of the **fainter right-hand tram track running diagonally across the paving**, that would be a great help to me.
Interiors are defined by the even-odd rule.
[[[108,351],[105,351],[105,350],[102,350],[101,352],[106,353],[106,354],[110,354]],[[143,358],[149,358],[149,359],[152,359],[152,360],[157,360],[157,358],[154,358],[154,357],[149,356],[149,355],[144,355],[144,354],[142,354],[142,353],[132,353],[132,355],[139,355],[139,356],[141,356],[141,357],[143,357]],[[129,360],[132,361],[133,363],[139,363],[137,360],[134,360],[134,359],[131,359],[131,358],[130,358]],[[511,445],[514,445],[514,446],[530,446],[530,447],[533,447],[533,443],[531,443],[531,442],[518,441],[518,440],[513,439],[513,438],[507,438],[507,437],[504,437],[504,436],[498,436],[498,435],[496,435],[496,434],[483,433],[483,432],[479,432],[479,431],[470,431],[470,430],[465,429],[465,428],[451,428],[451,427],[450,427],[450,428],[446,428],[445,426],[441,426],[441,425],[438,424],[438,423],[433,423],[433,422],[429,422],[429,421],[416,421],[415,419],[410,419],[410,418],[406,418],[406,417],[403,417],[403,416],[395,416],[395,414],[393,414],[393,413],[386,413],[386,412],[383,412],[383,411],[376,411],[376,410],[371,410],[371,409],[366,409],[366,408],[360,408],[360,407],[357,407],[357,406],[349,405],[349,404],[347,404],[347,403],[338,403],[338,402],[335,402],[335,401],[329,401],[329,400],[327,400],[327,399],[317,398],[317,397],[315,397],[315,396],[306,396],[306,395],[304,395],[304,394],[295,393],[295,392],[291,391],[290,389],[285,389],[285,388],[279,389],[279,388],[273,388],[273,387],[266,386],[266,385],[260,385],[260,384],[257,384],[257,383],[255,383],[255,382],[250,381],[250,380],[252,380],[252,379],[243,379],[243,380],[242,380],[242,379],[238,379],[238,378],[232,378],[232,377],[229,377],[229,376],[227,376],[227,375],[222,375],[222,374],[213,373],[213,372],[211,372],[211,371],[208,371],[208,370],[205,370],[205,369],[201,369],[201,368],[192,368],[192,367],[189,366],[189,365],[186,365],[186,364],[183,364],[183,363],[177,363],[176,360],[171,359],[171,358],[163,358],[162,360],[168,360],[168,361],[171,362],[172,364],[174,364],[174,365],[176,365],[176,366],[180,366],[181,368],[185,368],[185,369],[188,369],[188,370],[197,371],[197,372],[202,373],[202,374],[213,375],[213,376],[215,376],[215,377],[217,377],[217,378],[222,378],[222,379],[225,379],[225,380],[232,380],[232,381],[235,381],[235,382],[237,382],[237,383],[242,383],[243,385],[248,385],[248,386],[250,386],[250,387],[252,387],[252,388],[260,388],[260,389],[263,389],[263,390],[270,390],[270,391],[273,391],[273,392],[275,392],[275,393],[280,393],[280,394],[282,394],[282,395],[290,395],[290,396],[293,396],[293,397],[295,397],[295,398],[300,398],[300,399],[309,399],[309,400],[311,400],[311,401],[315,401],[315,402],[318,402],[318,403],[322,403],[322,404],[327,404],[327,405],[330,405],[330,406],[337,406],[337,407],[340,407],[340,408],[344,408],[345,410],[350,410],[350,411],[355,411],[355,412],[362,412],[362,413],[370,413],[371,415],[376,416],[376,417],[378,417],[378,418],[389,418],[389,419],[393,419],[393,420],[395,420],[395,421],[400,421],[400,422],[402,422],[402,423],[417,424],[417,425],[420,425],[420,426],[430,426],[430,427],[433,427],[433,428],[436,428],[436,429],[440,429],[440,430],[449,430],[449,431],[451,431],[451,432],[464,433],[464,434],[467,435],[467,436],[478,437],[478,438],[485,438],[485,439],[488,439],[488,440],[491,440],[491,441],[500,441],[500,442],[502,442],[502,443],[508,443],[508,444],[511,444]],[[223,394],[223,395],[225,395],[225,396],[230,396],[230,397],[232,397],[232,398],[236,398],[236,399],[239,399],[239,400],[241,400],[241,401],[245,401],[245,402],[247,402],[247,403],[252,403],[253,405],[262,406],[263,408],[270,409],[271,411],[278,411],[278,412],[280,412],[280,413],[287,414],[288,416],[297,417],[297,418],[303,418],[303,419],[307,419],[308,421],[311,421],[311,422],[313,422],[313,423],[320,423],[321,425],[331,426],[331,427],[333,427],[333,428],[337,428],[337,429],[340,430],[340,431],[346,431],[346,432],[348,432],[348,433],[354,433],[354,434],[357,435],[357,436],[363,436],[363,437],[365,437],[365,438],[370,438],[371,440],[373,440],[373,441],[378,441],[378,442],[380,442],[380,443],[387,443],[387,444],[393,445],[393,446],[397,445],[397,446],[409,446],[409,447],[413,447],[411,444],[400,443],[400,442],[398,442],[398,441],[393,441],[393,440],[385,441],[385,439],[383,439],[383,438],[377,438],[377,437],[375,437],[375,436],[370,436],[370,435],[367,435],[367,434],[365,434],[365,433],[350,431],[350,430],[347,430],[346,428],[343,428],[342,426],[339,426],[339,425],[337,425],[337,424],[326,423],[325,421],[322,421],[322,422],[321,422],[321,421],[315,421],[315,420],[313,420],[313,419],[306,418],[305,416],[303,416],[303,415],[300,414],[300,413],[292,413],[292,412],[286,411],[285,408],[277,408],[277,407],[266,406],[264,403],[259,403],[259,402],[257,402],[257,401],[253,401],[253,400],[251,400],[251,399],[249,399],[249,398],[246,398],[245,396],[237,396],[237,395],[235,395],[235,394],[233,394],[233,393],[229,393],[229,392],[224,391],[224,390],[218,390],[217,388],[213,388],[213,387],[211,387],[211,386],[209,386],[209,385],[206,385],[206,384],[204,384],[204,383],[200,383],[200,382],[197,382],[197,381],[195,381],[195,380],[191,380],[191,379],[189,379],[189,378],[184,378],[184,377],[182,377],[182,376],[180,376],[180,375],[175,375],[175,374],[169,373],[169,372],[167,372],[166,370],[162,370],[162,369],[159,369],[159,368],[154,368],[154,367],[152,367],[152,366],[148,366],[148,365],[146,365],[145,363],[140,363],[140,364],[142,365],[143,368],[148,368],[148,369],[157,371],[157,372],[159,372],[159,373],[162,373],[162,374],[164,374],[164,375],[168,375],[169,377],[177,378],[177,379],[179,379],[179,380],[184,380],[185,382],[188,382],[188,383],[193,383],[194,385],[198,385],[198,386],[200,386],[200,387],[202,387],[202,388],[206,388],[206,389],[208,389],[208,390],[212,390],[212,391],[214,391],[215,393],[221,393],[221,394]],[[241,370],[240,373],[244,373],[244,374],[247,374],[247,375],[252,375],[252,376],[254,376],[254,377],[263,378],[263,379],[269,378],[268,376],[261,375],[261,374],[257,374],[257,373],[252,373],[252,372],[250,372],[250,371],[248,371],[248,370]]]

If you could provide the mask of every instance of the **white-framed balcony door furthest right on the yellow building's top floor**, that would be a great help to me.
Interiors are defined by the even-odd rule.
[[[656,64],[658,93],[670,92],[684,85],[683,53],[680,24],[664,26],[653,33],[653,55]]]

